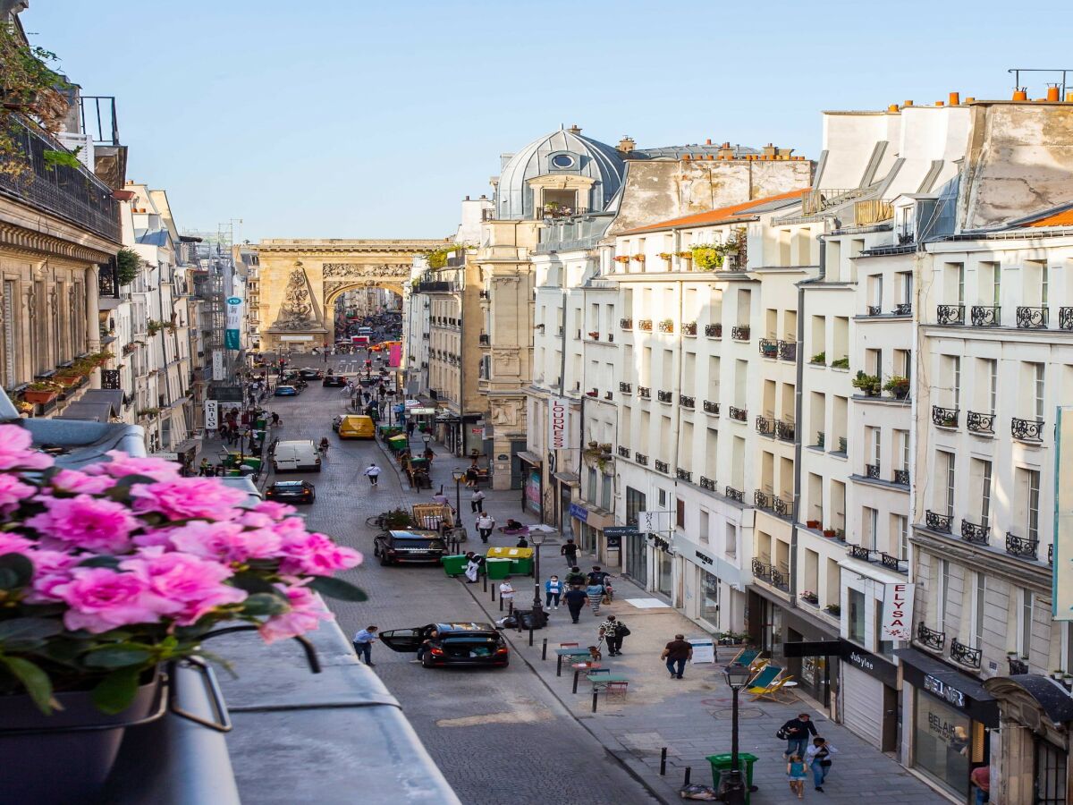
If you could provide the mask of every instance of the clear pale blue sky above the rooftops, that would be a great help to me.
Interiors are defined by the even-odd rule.
[[[256,240],[450,234],[499,155],[560,123],[814,158],[820,109],[1009,98],[1006,68],[1071,61],[1068,14],[1057,0],[31,0],[21,19],[86,94],[117,97],[128,176],[166,189],[180,228],[241,218]]]

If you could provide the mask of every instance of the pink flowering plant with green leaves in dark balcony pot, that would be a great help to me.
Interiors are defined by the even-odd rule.
[[[361,555],[291,507],[242,509],[217,479],[118,451],[59,470],[15,425],[0,425],[0,455],[5,801],[98,801],[126,728],[166,709],[163,669],[218,627],[271,643],[332,618],[314,592],[365,599],[332,577]]]

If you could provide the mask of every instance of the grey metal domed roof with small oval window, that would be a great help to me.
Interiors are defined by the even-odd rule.
[[[528,182],[538,176],[585,176],[596,179],[579,207],[602,211],[622,186],[626,161],[613,146],[582,136],[579,129],[559,129],[534,140],[503,166],[496,192],[497,218],[533,218]],[[587,203],[586,203],[587,202]]]

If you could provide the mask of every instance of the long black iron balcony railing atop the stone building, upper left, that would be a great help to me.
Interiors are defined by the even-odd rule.
[[[112,188],[84,167],[49,165],[45,151],[65,148],[44,130],[19,115],[9,115],[8,134],[21,158],[12,157],[26,165],[20,176],[0,171],[0,189],[31,205],[64,218],[83,229],[119,243],[119,204]]]

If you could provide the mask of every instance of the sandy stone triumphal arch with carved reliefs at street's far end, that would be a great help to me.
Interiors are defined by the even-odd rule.
[[[252,246],[260,268],[256,310],[250,313],[259,322],[261,349],[307,352],[329,343],[339,294],[377,286],[401,295],[414,255],[446,243],[268,238]]]

